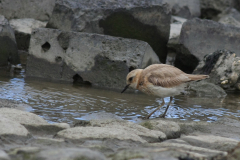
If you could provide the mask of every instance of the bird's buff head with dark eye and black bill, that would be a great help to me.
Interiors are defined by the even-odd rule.
[[[121,93],[126,91],[128,87],[137,89],[137,84],[138,84],[138,79],[140,78],[140,75],[142,73],[142,69],[135,69],[128,73],[127,78],[126,78],[126,87],[123,89]]]

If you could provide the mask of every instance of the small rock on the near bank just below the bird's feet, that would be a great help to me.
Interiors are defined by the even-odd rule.
[[[179,138],[181,135],[179,125],[173,121],[154,119],[143,121],[140,124],[148,129],[165,133],[168,139]]]

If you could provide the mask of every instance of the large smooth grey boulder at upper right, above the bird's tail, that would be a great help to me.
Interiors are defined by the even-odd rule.
[[[189,20],[182,26],[179,38],[181,53],[176,61],[194,69],[206,54],[218,49],[228,49],[240,56],[239,40],[240,28],[198,18]]]

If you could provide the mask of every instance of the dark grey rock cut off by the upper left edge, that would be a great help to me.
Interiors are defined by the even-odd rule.
[[[2,15],[0,15],[0,48],[0,66],[7,65],[8,62],[20,63],[14,31]]]

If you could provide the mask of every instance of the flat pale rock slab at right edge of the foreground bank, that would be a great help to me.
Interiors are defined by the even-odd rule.
[[[187,143],[202,148],[213,150],[228,151],[236,147],[239,141],[209,134],[195,134],[181,137]]]

